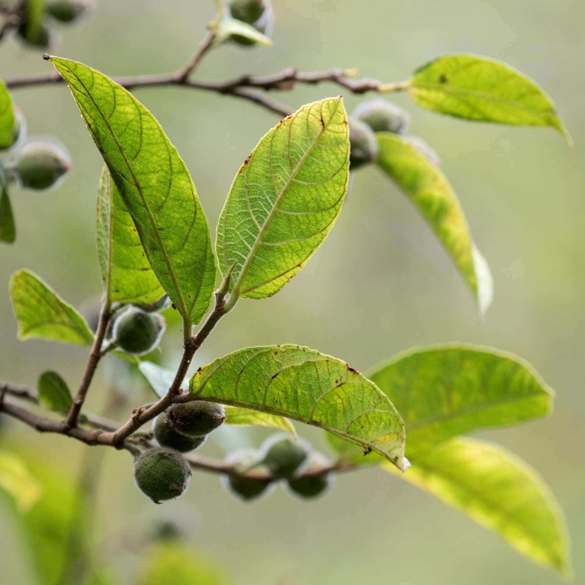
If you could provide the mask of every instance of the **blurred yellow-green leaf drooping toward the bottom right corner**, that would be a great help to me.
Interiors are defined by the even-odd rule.
[[[387,462],[384,469],[394,472]],[[562,511],[542,477],[507,450],[457,438],[412,459],[402,479],[499,534],[535,563],[572,574]]]

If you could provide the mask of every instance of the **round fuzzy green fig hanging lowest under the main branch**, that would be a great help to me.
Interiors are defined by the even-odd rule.
[[[134,479],[144,495],[160,504],[184,493],[191,479],[191,467],[177,451],[149,449],[136,457]]]

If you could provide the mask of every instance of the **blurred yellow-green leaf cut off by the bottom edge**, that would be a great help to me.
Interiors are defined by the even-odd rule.
[[[221,572],[177,542],[163,542],[147,552],[137,585],[223,585]]]

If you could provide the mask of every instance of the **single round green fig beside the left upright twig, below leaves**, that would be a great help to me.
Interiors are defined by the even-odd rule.
[[[141,356],[159,345],[165,328],[164,317],[158,313],[128,307],[115,317],[112,340],[123,351]]]

